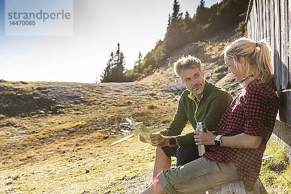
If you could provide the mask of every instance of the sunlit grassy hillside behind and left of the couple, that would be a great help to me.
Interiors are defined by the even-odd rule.
[[[206,79],[240,88],[227,74],[227,42],[197,42],[139,81],[65,83],[0,81],[0,192],[17,194],[138,193],[151,177],[154,147],[134,139],[133,116],[152,131],[166,127],[178,102],[167,89],[178,81],[171,65],[181,54],[202,59]],[[187,126],[191,130],[190,126]],[[9,191],[10,190],[10,191]]]

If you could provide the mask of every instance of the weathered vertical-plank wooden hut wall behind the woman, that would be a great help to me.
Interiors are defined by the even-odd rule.
[[[271,46],[280,121],[291,125],[291,1],[250,0],[247,36]]]

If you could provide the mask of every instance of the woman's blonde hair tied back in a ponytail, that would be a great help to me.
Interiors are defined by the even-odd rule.
[[[254,77],[242,83],[244,88],[257,79],[261,80],[261,83],[270,83],[272,81],[273,65],[269,47],[265,42],[259,41],[255,43],[250,39],[240,38],[228,45],[224,53],[225,57],[234,61],[234,67],[238,71],[245,71],[247,75],[254,75]],[[240,63],[241,57],[246,60],[245,66]]]

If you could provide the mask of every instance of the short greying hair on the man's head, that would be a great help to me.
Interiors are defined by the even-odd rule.
[[[200,71],[202,69],[201,60],[191,55],[183,55],[174,63],[174,71],[179,78],[181,78],[182,72],[192,68],[198,68]]]

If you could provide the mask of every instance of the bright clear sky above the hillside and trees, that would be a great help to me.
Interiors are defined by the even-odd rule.
[[[183,14],[193,17],[199,1],[179,0]],[[207,7],[220,1],[205,0]],[[0,0],[0,79],[93,83],[118,42],[131,69],[139,51],[145,56],[164,38],[174,0],[73,2],[72,36],[5,36]]]

